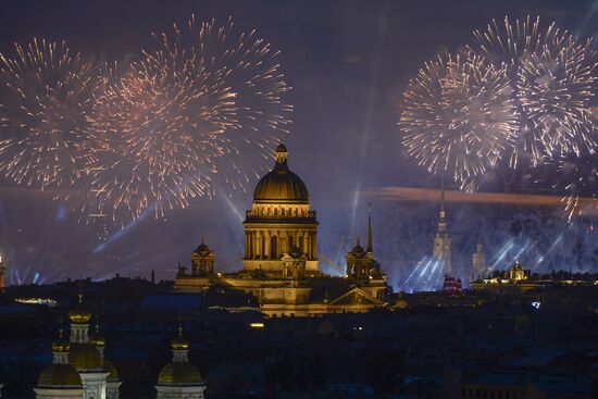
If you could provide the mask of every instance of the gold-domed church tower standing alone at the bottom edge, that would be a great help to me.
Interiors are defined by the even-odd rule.
[[[195,364],[189,362],[189,341],[183,337],[183,327],[178,326],[178,336],[171,342],[173,361],[160,371],[155,390],[158,399],[203,399],[205,384]]]

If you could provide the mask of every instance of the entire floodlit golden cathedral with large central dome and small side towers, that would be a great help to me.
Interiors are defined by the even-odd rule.
[[[258,183],[245,226],[242,270],[214,274],[214,253],[203,242],[191,254],[191,271],[179,267],[175,289],[197,291],[214,284],[256,296],[271,316],[367,312],[385,306],[386,276],[374,259],[371,212],[367,248],[347,255],[347,275],[332,277],[317,265],[317,221],[306,184],[288,167],[288,151],[276,148],[275,164]]]

